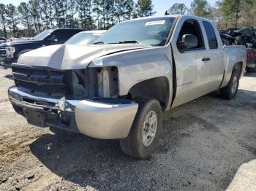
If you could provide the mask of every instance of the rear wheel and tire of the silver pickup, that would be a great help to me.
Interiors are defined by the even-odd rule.
[[[222,98],[232,100],[236,97],[239,87],[239,80],[240,80],[240,70],[233,69],[233,72],[230,77],[230,82],[226,87],[220,89],[220,94]]]

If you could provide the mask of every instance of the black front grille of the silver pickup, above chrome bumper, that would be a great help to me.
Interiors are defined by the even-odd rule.
[[[70,95],[68,71],[12,64],[12,74],[20,90],[53,97]]]

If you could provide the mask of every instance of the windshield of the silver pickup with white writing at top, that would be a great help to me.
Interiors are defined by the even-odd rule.
[[[94,44],[140,43],[163,46],[174,20],[174,17],[155,17],[119,23],[102,34]]]

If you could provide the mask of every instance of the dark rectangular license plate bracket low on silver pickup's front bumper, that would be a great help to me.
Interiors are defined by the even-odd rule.
[[[42,112],[35,112],[30,109],[23,109],[24,117],[31,125],[36,125],[42,128],[46,127],[46,114]]]

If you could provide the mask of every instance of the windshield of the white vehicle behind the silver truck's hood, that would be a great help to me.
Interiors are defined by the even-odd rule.
[[[72,36],[67,40],[65,44],[73,44],[73,45],[86,45],[86,44],[94,44],[95,40],[99,38],[101,34],[99,33],[84,33],[81,32]]]

